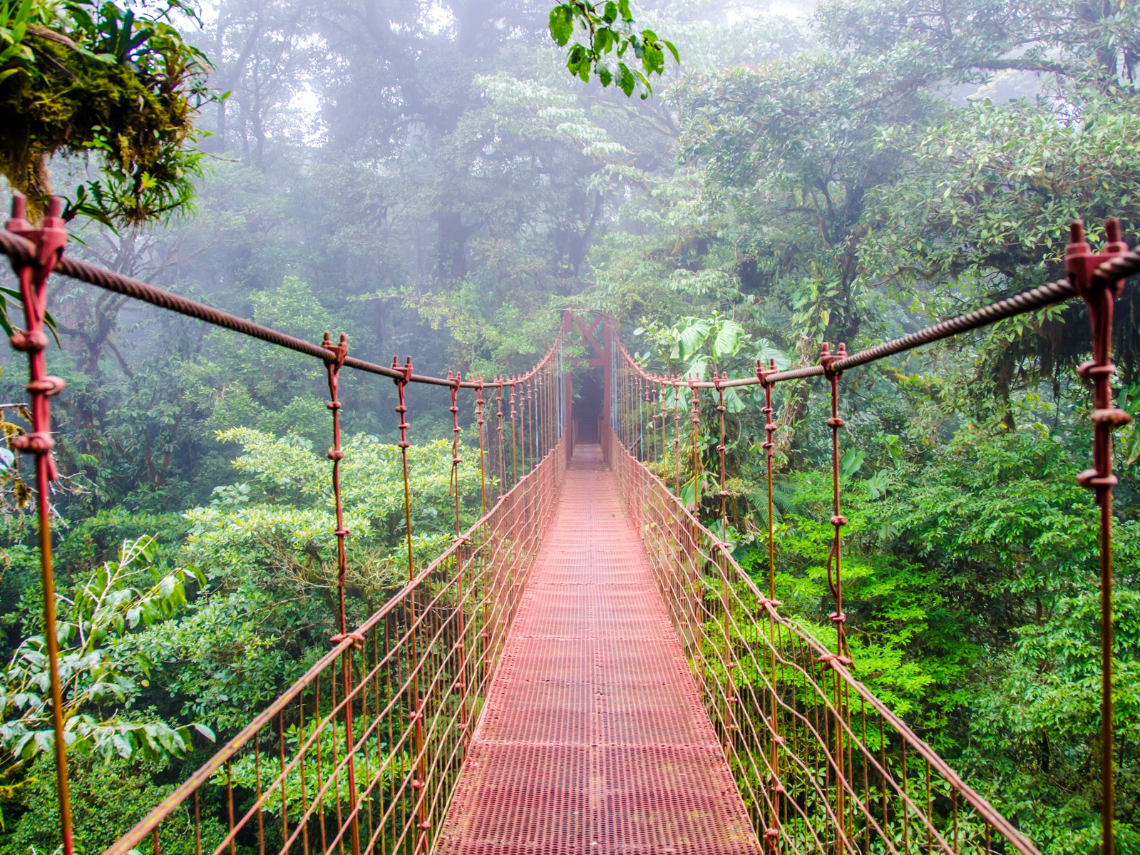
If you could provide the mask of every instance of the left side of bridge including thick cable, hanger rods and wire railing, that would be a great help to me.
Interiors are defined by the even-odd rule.
[[[24,197],[16,194],[13,218],[0,230],[0,252],[8,255],[19,280],[24,309],[25,328],[10,341],[28,356],[32,424],[31,431],[9,434],[8,441],[35,461],[52,716],[50,730],[36,733],[36,741],[42,738],[54,747],[63,855],[73,855],[75,840],[51,556],[50,483],[58,472],[50,399],[65,388],[62,378],[47,374],[44,325],[51,274],[309,356],[315,368],[319,364],[331,398],[328,474],[335,520],[327,537],[336,544],[339,597],[339,614],[329,620],[336,626],[331,650],[107,853],[124,855],[137,848],[154,855],[236,855],[238,849],[261,855],[267,849],[342,855],[427,852],[569,458],[570,440],[563,430],[569,401],[564,325],[551,349],[522,375],[486,382],[450,372],[447,377],[420,375],[410,357],[402,365],[394,357],[390,366],[367,363],[349,356],[343,334],[339,341],[328,333],[323,342],[304,341],[67,255],[60,212],[60,199],[51,199],[43,222],[34,228],[25,219]],[[341,492],[345,453],[339,396],[344,368],[394,381],[398,390],[393,421],[402,456],[408,569],[407,586],[356,629],[345,617],[352,542]],[[426,567],[414,560],[413,549],[417,497],[409,484],[409,385],[450,396],[455,540]],[[477,500],[459,495],[461,392],[473,397],[482,514],[467,531],[461,531],[461,519],[467,502]]]

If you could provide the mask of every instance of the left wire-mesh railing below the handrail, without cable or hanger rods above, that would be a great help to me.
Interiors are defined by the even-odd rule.
[[[568,442],[105,855],[429,852]]]

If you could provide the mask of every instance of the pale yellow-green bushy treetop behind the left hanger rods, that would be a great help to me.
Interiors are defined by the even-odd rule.
[[[326,649],[336,632],[336,529],[331,464],[307,440],[249,427],[219,434],[243,449],[233,463],[245,479],[214,490],[186,513],[180,561],[209,584],[185,616],[129,642],[154,662],[152,682],[185,719],[234,731],[250,709],[272,700]],[[374,437],[347,438],[341,462],[348,540],[350,624],[372,613],[408,578],[400,449]],[[478,514],[478,453],[461,447],[461,524]],[[455,531],[449,494],[451,443],[408,450],[413,545],[417,567]],[[125,648],[124,648],[125,649]]]

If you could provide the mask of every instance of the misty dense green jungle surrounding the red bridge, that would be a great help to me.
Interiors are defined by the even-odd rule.
[[[662,372],[814,363],[1059,278],[1074,217],[1140,239],[1134,0],[642,0],[642,65],[602,73],[551,6],[0,0],[0,169],[67,197],[76,255],[434,374],[524,369],[564,306],[611,312]],[[97,852],[326,649],[327,389],[300,356],[85,285],[54,282],[50,309],[73,800]],[[1135,286],[1117,318],[1140,415]],[[1099,828],[1088,351],[1074,303],[842,381],[856,674],[1050,854]],[[430,557],[449,401],[409,398]],[[359,620],[405,572],[402,486],[392,384],[348,375],[342,400]],[[728,467],[736,556],[766,579],[762,400],[730,401]],[[779,388],[776,412],[779,594],[826,637],[822,386]],[[2,413],[8,439],[26,426]],[[1140,853],[1140,429],[1116,450],[1118,847]],[[26,855],[55,849],[56,807],[27,464],[0,448],[0,852]]]

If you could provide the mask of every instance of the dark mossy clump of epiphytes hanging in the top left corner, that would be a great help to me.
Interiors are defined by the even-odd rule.
[[[194,119],[209,99],[205,57],[157,14],[108,0],[0,5],[0,171],[33,202],[51,192],[48,161],[95,155],[101,174],[65,212],[108,226],[187,207],[201,176]]]

